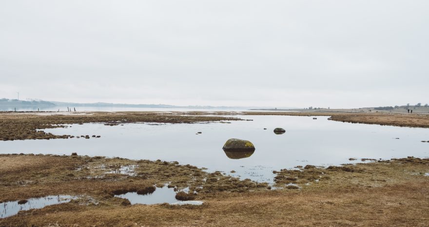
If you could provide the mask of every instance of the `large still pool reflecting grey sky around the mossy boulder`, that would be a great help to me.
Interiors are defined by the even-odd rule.
[[[0,141],[0,153],[50,153],[119,156],[178,161],[220,170],[242,179],[273,182],[273,170],[295,166],[329,166],[360,162],[361,158],[428,157],[429,129],[351,124],[317,116],[234,115],[253,121],[198,124],[136,123],[117,126],[71,125],[45,132],[100,135],[100,138]],[[274,128],[284,134],[275,134]],[[267,128],[267,130],[264,130]],[[198,134],[197,132],[202,132]],[[222,150],[230,138],[250,140],[253,153]],[[396,139],[399,138],[399,139]],[[356,158],[356,161],[349,161]],[[235,173],[230,173],[234,170]]]

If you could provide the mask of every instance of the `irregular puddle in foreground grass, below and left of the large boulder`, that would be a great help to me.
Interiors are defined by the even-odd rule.
[[[189,189],[183,189],[180,191],[189,192]],[[162,188],[156,188],[153,193],[139,195],[137,192],[127,192],[121,195],[115,195],[115,197],[128,199],[132,205],[135,204],[161,204],[161,203],[169,203],[171,205],[201,205],[201,201],[180,201],[176,199],[176,191],[174,188],[168,188],[164,186]]]

